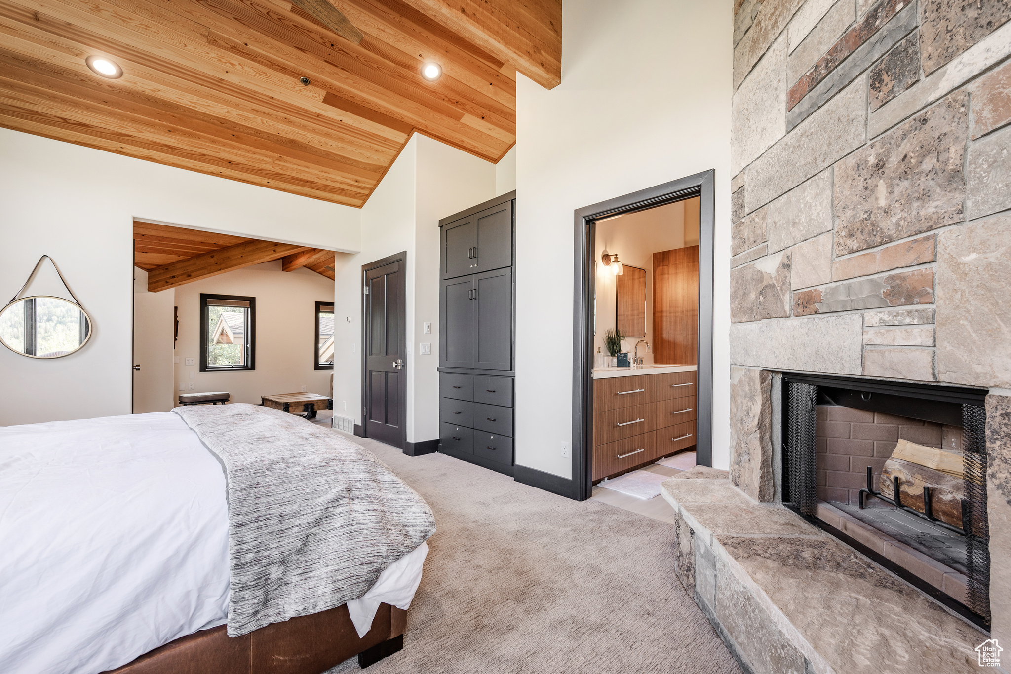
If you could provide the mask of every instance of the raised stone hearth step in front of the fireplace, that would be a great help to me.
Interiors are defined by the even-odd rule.
[[[688,473],[661,492],[677,576],[755,674],[979,671],[975,625],[792,510]]]

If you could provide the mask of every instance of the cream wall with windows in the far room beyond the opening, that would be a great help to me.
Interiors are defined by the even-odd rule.
[[[256,369],[200,372],[200,293],[256,297]],[[157,293],[156,293],[157,294]],[[331,370],[312,367],[315,303],[334,299],[334,282],[307,269],[282,272],[281,261],[266,262],[176,288],[179,342],[175,355],[176,393],[227,391],[232,402],[260,404],[260,396],[330,394]],[[186,359],[196,365],[186,365]],[[190,378],[190,374],[193,377]],[[179,390],[179,384],[186,386]],[[194,390],[189,390],[189,384]]]

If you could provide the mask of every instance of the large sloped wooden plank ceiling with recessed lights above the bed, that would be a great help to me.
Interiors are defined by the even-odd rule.
[[[357,207],[415,130],[497,162],[517,68],[558,84],[561,0],[0,0],[0,126]]]

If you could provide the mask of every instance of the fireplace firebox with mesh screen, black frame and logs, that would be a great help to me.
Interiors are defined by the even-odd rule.
[[[782,391],[784,504],[988,628],[987,391],[795,373]]]

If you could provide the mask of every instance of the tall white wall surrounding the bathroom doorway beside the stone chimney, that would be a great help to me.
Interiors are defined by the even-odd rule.
[[[566,0],[562,82],[517,82],[516,461],[570,477],[573,211],[716,170],[713,462],[729,463],[733,6]],[[555,335],[545,349],[545,335]]]

